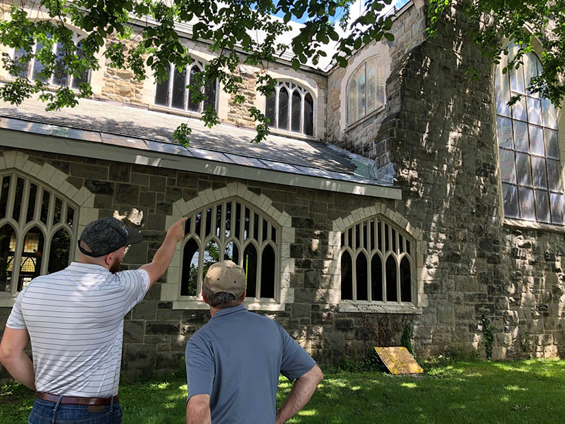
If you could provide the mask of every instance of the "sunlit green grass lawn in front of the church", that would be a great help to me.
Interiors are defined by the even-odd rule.
[[[281,377],[277,404],[290,391]],[[326,371],[292,423],[564,423],[565,360],[451,362],[425,375]],[[33,395],[0,388],[0,423],[25,423]],[[120,387],[124,423],[183,423],[186,382],[162,377]]]

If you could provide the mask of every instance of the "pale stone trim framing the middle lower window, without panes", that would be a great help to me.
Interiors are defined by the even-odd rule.
[[[280,212],[272,205],[271,199],[265,195],[257,195],[251,192],[245,184],[231,182],[223,188],[212,190],[208,188],[199,192],[199,195],[189,201],[180,199],[173,203],[173,214],[166,216],[166,228],[173,225],[183,216],[192,215],[197,210],[218,201],[241,199],[260,211],[264,216],[277,223],[280,227],[279,245],[279,284],[275,299],[246,299],[245,305],[249,310],[281,311],[285,310],[286,303],[294,302],[294,288],[290,287],[290,275],[294,273],[294,258],[290,258],[290,245],[294,242],[294,228],[291,227],[291,218],[286,212]],[[172,301],[173,309],[203,310],[209,306],[204,303],[200,293],[195,297],[181,296],[181,267],[182,247],[179,243],[175,249],[173,260],[168,267],[166,283],[161,285],[161,301]]]

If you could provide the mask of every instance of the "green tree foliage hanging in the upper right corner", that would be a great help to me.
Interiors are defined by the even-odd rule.
[[[451,8],[461,5],[466,20],[479,23],[470,30],[485,58],[499,64],[509,55],[509,45],[520,46],[509,55],[506,73],[523,66],[523,56],[536,51],[542,73],[530,80],[528,90],[540,92],[553,105],[560,107],[565,97],[565,1],[563,0],[429,0],[427,29],[436,35],[437,25]],[[538,44],[539,43],[539,44]],[[536,47],[536,48],[534,48]],[[510,103],[518,101],[514,96]]]

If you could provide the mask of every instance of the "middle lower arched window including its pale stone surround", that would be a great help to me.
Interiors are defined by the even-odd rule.
[[[254,249],[255,286],[251,287],[252,292],[248,288],[248,308],[284,310],[284,304],[292,302],[290,273],[294,271],[294,259],[290,258],[290,243],[294,242],[294,229],[290,216],[273,207],[271,199],[251,192],[244,184],[230,183],[217,190],[203,190],[190,201],[175,202],[173,215],[167,221],[176,222],[181,216],[188,216],[185,242],[177,247],[179,254],[169,266],[166,284],[162,285],[162,300],[173,301],[173,308],[207,307],[199,297],[202,264],[199,264],[197,295],[185,295],[187,290],[182,289],[187,274],[180,249],[192,238],[198,243],[201,255],[205,255],[207,243],[214,239],[218,258],[231,257],[241,265],[246,260],[245,253]],[[269,261],[273,262],[269,267],[263,265]]]

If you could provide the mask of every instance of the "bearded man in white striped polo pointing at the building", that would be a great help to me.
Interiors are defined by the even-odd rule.
[[[184,237],[184,221],[168,229],[151,263],[130,271],[119,271],[120,264],[127,247],[143,236],[115,218],[94,221],[79,238],[77,262],[36,277],[20,292],[0,362],[38,392],[29,423],[121,423],[123,317],[166,271]],[[33,362],[24,352],[29,340]]]

